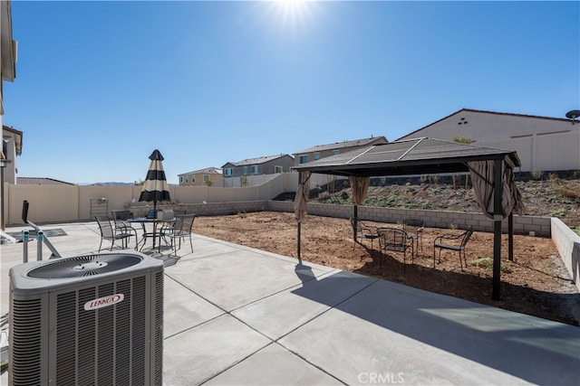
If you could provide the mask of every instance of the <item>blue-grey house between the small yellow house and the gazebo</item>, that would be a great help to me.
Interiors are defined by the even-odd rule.
[[[228,162],[221,168],[224,178],[239,177],[242,175],[276,174],[290,172],[294,166],[291,155],[269,155],[258,158],[248,158],[239,162]]]

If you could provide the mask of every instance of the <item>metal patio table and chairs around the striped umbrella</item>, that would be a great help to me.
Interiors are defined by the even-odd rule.
[[[135,250],[143,251],[147,245],[147,240],[152,240],[152,246],[145,249],[147,253],[161,253],[161,248],[167,248],[177,255],[181,249],[181,241],[189,238],[189,246],[193,250],[191,232],[196,215],[186,211],[173,211],[170,218],[158,216],[160,211],[150,211],[147,217],[133,217],[130,211],[111,211],[111,217],[107,215],[95,216],[101,231],[101,243],[99,251],[102,249],[102,241],[111,241],[111,250],[115,241],[121,242],[121,248],[129,248],[131,238],[135,238]],[[140,224],[140,231],[133,227],[133,224]],[[139,227],[138,227],[139,228]],[[151,229],[152,228],[152,229]]]

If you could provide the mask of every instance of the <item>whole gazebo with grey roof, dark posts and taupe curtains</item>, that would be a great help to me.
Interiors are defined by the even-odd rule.
[[[370,177],[390,175],[448,174],[469,172],[482,212],[493,221],[492,299],[499,299],[501,222],[508,218],[509,256],[513,256],[512,216],[523,213],[521,194],[513,181],[513,169],[520,160],[513,150],[461,144],[435,138],[416,138],[384,145],[363,147],[293,167],[299,172],[295,215],[298,221],[298,258],[300,228],[305,215],[310,174],[348,176],[353,187],[353,217],[357,205],[366,198]]]

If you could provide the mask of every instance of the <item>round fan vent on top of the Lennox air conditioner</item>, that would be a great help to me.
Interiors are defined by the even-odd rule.
[[[70,259],[55,259],[53,262],[31,269],[29,278],[82,278],[130,268],[143,259],[136,254],[95,254],[76,256]]]

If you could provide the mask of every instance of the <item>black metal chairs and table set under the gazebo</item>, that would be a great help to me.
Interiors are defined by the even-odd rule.
[[[364,221],[351,219],[355,241],[362,240],[371,241],[371,249],[373,248],[374,240],[378,240],[381,256],[379,265],[382,267],[382,261],[386,259],[385,252],[402,252],[403,253],[403,271],[407,265],[407,250],[411,249],[411,264],[414,264],[415,252],[423,250],[423,231],[425,229],[425,221],[419,218],[406,218],[401,221],[400,225],[391,227],[377,227],[368,225]],[[469,227],[468,230],[460,234],[441,234],[433,241],[433,268],[437,259],[437,251],[439,251],[439,261],[441,257],[441,250],[453,250],[459,252],[459,265],[463,270],[463,264],[467,268],[467,258],[465,248],[473,234],[473,230]],[[356,248],[356,243],[354,244]],[[362,258],[361,258],[362,259]]]

